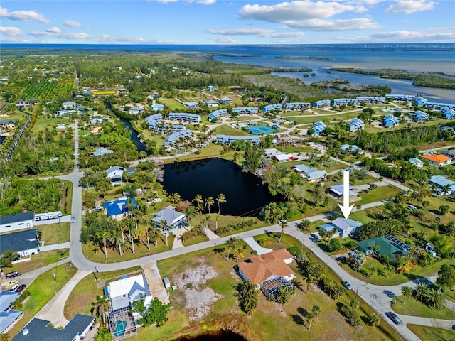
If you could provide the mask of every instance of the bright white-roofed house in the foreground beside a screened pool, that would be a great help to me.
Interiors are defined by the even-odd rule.
[[[149,284],[142,275],[136,276],[122,276],[118,281],[112,281],[105,287],[105,294],[111,301],[111,313],[114,315],[115,311],[129,310],[131,304],[139,299],[144,299],[144,305],[150,305],[153,299],[150,293]],[[139,320],[141,315],[139,313],[132,313],[135,320]]]

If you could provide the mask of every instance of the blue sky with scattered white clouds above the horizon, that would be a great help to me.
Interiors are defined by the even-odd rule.
[[[0,41],[455,43],[455,0],[3,0]]]

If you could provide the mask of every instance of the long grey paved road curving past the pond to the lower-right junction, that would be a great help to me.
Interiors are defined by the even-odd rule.
[[[77,151],[79,146],[79,139],[78,139],[78,127],[77,127],[77,119],[75,120],[75,169],[73,173],[68,175],[59,176],[58,178],[62,178],[65,180],[71,181],[73,183],[73,206],[72,212],[73,216],[75,217],[75,222],[72,224],[71,234],[70,234],[70,259],[73,264],[83,271],[95,271],[95,267],[97,271],[113,271],[118,269],[127,269],[132,266],[138,266],[149,261],[159,261],[161,259],[168,259],[171,257],[176,257],[181,254],[188,254],[192,251],[206,249],[208,247],[213,247],[215,245],[220,245],[225,243],[230,237],[253,237],[257,234],[263,234],[264,232],[279,232],[281,227],[275,224],[270,227],[254,229],[247,232],[242,232],[239,234],[235,234],[233,236],[228,237],[221,237],[218,239],[210,240],[208,242],[203,242],[196,245],[191,245],[190,247],[181,247],[178,249],[173,249],[171,251],[166,251],[161,254],[154,254],[151,256],[146,256],[141,259],[132,259],[130,261],[123,261],[121,263],[95,263],[89,261],[85,258],[84,254],[82,253],[82,243],[80,242],[80,232],[82,228],[82,188],[79,186],[79,179],[83,175],[82,172],[79,171],[77,165]],[[364,205],[365,206],[365,205]],[[316,219],[316,217],[314,217]],[[302,244],[308,247],[316,256],[319,257],[324,263],[327,264],[329,268],[331,268],[338,276],[350,282],[351,286],[355,289],[356,293],[360,298],[362,298],[368,305],[370,305],[378,315],[384,317],[384,313],[386,311],[392,310],[390,308],[390,303],[392,298],[401,295],[401,287],[403,285],[415,286],[417,283],[410,282],[405,283],[398,286],[375,286],[369,283],[365,283],[360,281],[350,274],[346,273],[334,259],[330,256],[325,254],[314,242],[310,240],[309,234],[302,233],[297,227],[294,222],[289,222],[289,227],[285,229],[285,233],[295,237],[298,240],[302,241]],[[406,323],[416,323],[421,325],[432,325],[437,326],[440,328],[451,328],[451,324],[453,321],[450,320],[437,320],[431,318],[417,318],[412,316],[405,316],[400,315],[400,318],[405,322],[402,325],[395,325],[393,324],[388,318],[385,318],[387,323],[392,325],[397,332],[402,335],[402,337],[407,341],[416,341],[419,340],[416,335],[414,335],[409,328],[407,328]]]

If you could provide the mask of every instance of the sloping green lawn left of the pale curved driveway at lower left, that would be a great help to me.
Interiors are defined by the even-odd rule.
[[[53,277],[55,271],[55,283]],[[26,288],[30,292],[23,304],[23,316],[18,320],[16,325],[8,332],[9,336],[16,335],[26,324],[38,313],[43,306],[55,296],[56,291],[59,291],[70,278],[72,278],[77,269],[70,263],[56,266],[54,269],[46,271],[38,276],[31,285]]]

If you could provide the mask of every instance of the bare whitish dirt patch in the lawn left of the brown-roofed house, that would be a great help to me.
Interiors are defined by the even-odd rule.
[[[183,293],[188,320],[202,319],[209,313],[213,302],[223,297],[207,286],[207,282],[216,276],[218,272],[213,266],[200,264],[196,268],[187,269],[174,281],[178,290]]]

